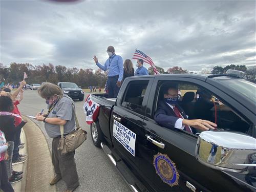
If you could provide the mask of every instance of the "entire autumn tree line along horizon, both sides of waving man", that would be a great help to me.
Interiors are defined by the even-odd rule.
[[[156,66],[157,70],[161,74],[178,74],[178,73],[194,73],[181,67],[174,66],[166,71]],[[226,67],[215,66],[212,69],[202,70],[201,73],[219,74],[225,73],[228,69],[240,70],[246,73],[248,80],[255,82],[256,67],[248,68],[245,65],[227,65]],[[5,79],[6,83],[18,83],[23,79],[24,72],[27,73],[26,79],[28,84],[42,83],[42,82],[74,82],[82,88],[88,88],[89,86],[104,87],[107,79],[107,74],[101,69],[77,69],[67,68],[65,66],[54,66],[52,63],[48,65],[42,64],[41,66],[33,66],[30,63],[16,63],[12,62],[10,67],[4,66],[0,63],[0,80]],[[148,73],[153,74],[153,68],[148,68]]]

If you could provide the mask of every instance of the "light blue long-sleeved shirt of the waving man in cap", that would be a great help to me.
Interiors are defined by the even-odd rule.
[[[108,76],[113,77],[119,75],[118,81],[123,79],[123,59],[119,55],[112,55],[110,58],[106,59],[104,66],[99,62],[96,65],[103,71],[109,70]]]

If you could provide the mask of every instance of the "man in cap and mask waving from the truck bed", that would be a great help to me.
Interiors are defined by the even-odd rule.
[[[117,97],[123,79],[123,59],[115,54],[113,46],[109,46],[106,52],[108,52],[109,58],[106,59],[104,66],[98,62],[98,58],[95,55],[93,59],[100,69],[103,71],[108,70],[108,94],[109,98],[113,98]]]

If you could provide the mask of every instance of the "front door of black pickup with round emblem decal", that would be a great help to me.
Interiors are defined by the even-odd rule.
[[[146,103],[142,130],[137,131],[139,139],[136,140],[135,158],[143,180],[155,191],[243,191],[242,182],[239,184],[224,172],[211,169],[196,160],[196,135],[183,130],[167,129],[156,123],[154,112],[161,99],[162,82],[182,82],[178,86],[185,87],[189,92],[196,92],[195,86],[197,88],[198,85],[220,95],[224,100],[232,100],[222,91],[200,80],[156,77]]]

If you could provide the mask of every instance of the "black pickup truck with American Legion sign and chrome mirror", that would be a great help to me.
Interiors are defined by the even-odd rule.
[[[92,140],[134,191],[256,191],[256,86],[240,77],[126,78],[117,98],[92,95],[100,104]],[[188,119],[211,120],[218,130],[192,134],[154,120],[163,88],[174,83]],[[208,104],[201,103],[205,94]]]

